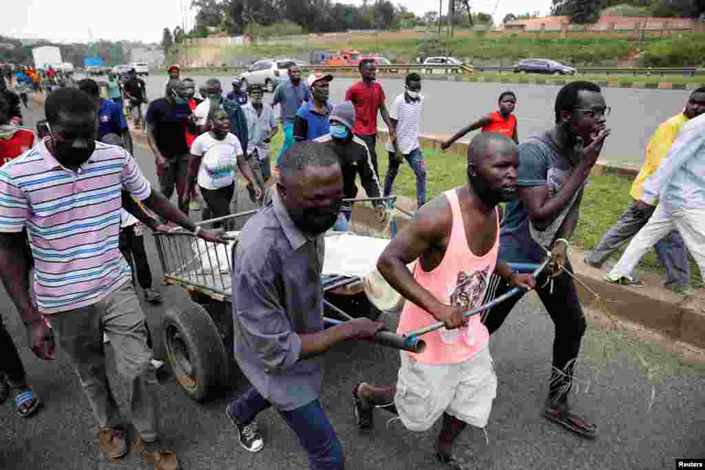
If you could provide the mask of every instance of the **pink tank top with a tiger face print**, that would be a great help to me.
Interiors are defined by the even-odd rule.
[[[443,193],[453,211],[453,228],[443,261],[429,272],[424,271],[421,264],[417,263],[414,278],[436,296],[436,299],[467,311],[482,305],[487,285],[497,264],[499,216],[497,214],[497,235],[492,249],[484,256],[474,255],[467,247],[457,191],[455,188]],[[421,307],[413,302],[406,302],[397,333],[418,330],[436,321]],[[427,333],[422,338],[426,341],[426,350],[421,354],[410,352],[410,356],[425,364],[458,364],[482,351],[489,342],[489,333],[482,324],[480,315],[476,315],[470,319],[467,326],[456,330],[441,328]]]

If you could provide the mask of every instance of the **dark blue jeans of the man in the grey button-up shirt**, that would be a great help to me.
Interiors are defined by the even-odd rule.
[[[250,386],[243,395],[231,403],[231,416],[240,426],[249,424],[259,412],[271,407],[255,387]],[[331,426],[320,400],[288,412],[277,410],[289,428],[298,435],[299,443],[309,454],[311,470],[345,469],[343,445]]]

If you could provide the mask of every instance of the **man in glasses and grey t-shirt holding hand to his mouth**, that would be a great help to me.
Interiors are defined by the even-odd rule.
[[[532,135],[519,146],[517,199],[507,203],[501,224],[500,259],[503,263],[540,264],[546,249],[558,240],[570,240],[577,225],[583,188],[605,138],[610,134],[605,117],[610,109],[601,89],[591,82],[565,85],[556,97],[556,125]],[[565,268],[572,273],[572,267]],[[499,297],[510,286],[490,280],[487,297]],[[572,411],[568,395],[573,369],[586,328],[575,284],[568,273],[537,279],[537,293],[556,326],[553,364],[543,416],[587,438],[597,428]],[[522,296],[493,307],[484,316],[494,333]],[[486,299],[487,300],[487,299]]]

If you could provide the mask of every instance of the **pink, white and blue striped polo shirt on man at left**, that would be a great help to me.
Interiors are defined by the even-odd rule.
[[[138,200],[152,193],[133,156],[101,142],[77,172],[46,141],[0,168],[0,232],[27,228],[42,314],[95,304],[130,279],[118,249],[123,186]]]

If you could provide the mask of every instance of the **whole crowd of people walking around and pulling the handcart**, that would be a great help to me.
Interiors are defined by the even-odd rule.
[[[239,173],[260,210],[241,230],[232,254],[233,354],[250,385],[228,404],[226,415],[240,445],[258,452],[264,439],[257,416],[274,407],[298,435],[311,469],[345,467],[343,447],[319,400],[321,357],[338,342],[372,337],[384,324],[360,318],[324,328],[324,233],[348,230],[351,206],[343,199],[357,196],[358,177],[368,197],[381,199],[393,193],[403,161],[415,173],[418,210],[377,268],[407,299],[398,333],[436,321],[444,328],[424,336],[423,352],[400,352],[396,383],[357,383],[351,419],[364,432],[373,428],[376,412],[398,416],[412,431],[426,431],[440,419],[436,458],[457,464],[453,443],[467,425],[485,428],[496,397],[489,337],[521,296],[469,321],[463,313],[520,287],[537,291],[555,324],[541,414],[586,438],[598,434],[568,401],[587,326],[572,277],[541,273],[534,279],[508,263],[539,264],[547,250],[572,237],[584,188],[611,134],[610,107],[600,87],[565,85],[555,99],[554,125],[521,143],[513,115],[517,95],[504,92],[496,111],[443,142],[445,150],[482,130],[467,149],[465,185],[427,202],[419,146],[422,78],[407,75],[404,92],[387,109],[374,61],[361,61],[359,69],[360,82],[343,102],[331,104],[332,75],[302,80],[300,68],[291,66],[269,104],[262,87],[243,90],[238,80],[223,97],[221,82],[210,78],[197,97],[194,80],[170,68],[163,97],[149,101],[144,118],[158,190],[132,155],[123,104],[133,108],[139,125],[147,102],[145,83],[134,73],[124,83],[110,76],[106,98],[92,79],[52,91],[46,118],[37,125],[39,138],[18,125],[20,101],[0,80],[0,277],[32,351],[54,360],[58,342],[71,359],[99,423],[99,447],[111,459],[123,457],[129,446],[116,424],[120,412],[107,381],[104,341],[130,384],[131,422],[141,448],[176,462],[159,439],[160,364],[154,363],[136,293],[139,283],[147,302],[161,302],[152,288],[143,227],[180,226],[222,242],[221,232],[201,228],[188,215],[200,209],[200,198],[202,218],[231,214]],[[668,270],[666,285],[677,292],[692,294],[687,252],[705,272],[704,112],[705,88],[696,89],[683,111],[656,130],[632,186],[633,201],[585,259],[601,267],[634,237],[606,275],[608,282],[639,285],[632,271],[655,244]],[[384,190],[378,116],[389,136]],[[279,125],[283,147],[273,172],[271,140]],[[174,192],[176,205],[169,202]],[[375,206],[384,218],[380,199]],[[572,273],[570,264],[565,268]],[[18,415],[32,415],[41,400],[1,321],[0,355],[0,401],[13,395]]]

